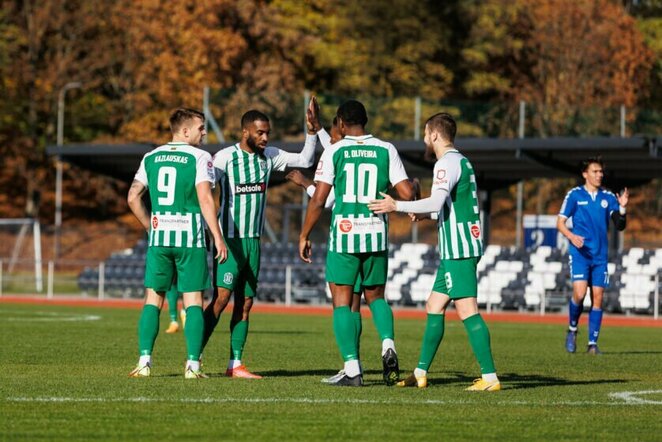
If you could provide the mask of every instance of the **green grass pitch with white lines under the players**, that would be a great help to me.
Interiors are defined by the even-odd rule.
[[[221,375],[227,315],[205,352],[211,379],[183,379],[181,333],[160,333],[153,377],[128,379],[138,315],[0,304],[0,439],[652,441],[662,431],[662,328],[605,328],[605,353],[591,357],[564,352],[562,326],[491,323],[504,390],[485,394],[464,391],[478,368],[458,321],[446,323],[430,386],[419,391],[383,385],[369,319],[367,386],[321,384],[341,366],[331,318],[276,314],[251,320],[245,362],[263,380]],[[164,310],[161,330],[167,323]],[[396,321],[403,371],[416,364],[423,327]],[[638,396],[656,403],[610,396],[643,390],[657,390]]]

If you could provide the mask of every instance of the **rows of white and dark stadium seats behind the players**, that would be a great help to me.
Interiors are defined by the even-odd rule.
[[[113,253],[103,266],[104,290],[113,296],[141,297],[146,244]],[[324,282],[326,244],[313,247],[313,264],[300,261],[296,244],[262,244],[258,299],[282,302],[330,300]],[[210,262],[211,266],[211,257]],[[439,264],[436,246],[391,244],[386,298],[397,305],[423,305]],[[288,270],[289,269],[289,270]],[[478,304],[501,310],[559,310],[572,294],[567,256],[541,246],[531,250],[490,245],[478,264]],[[288,278],[289,272],[289,278]],[[662,249],[631,248],[609,262],[610,287],[603,308],[608,312],[651,313],[655,275],[662,280]],[[288,284],[289,279],[289,284]],[[82,291],[96,292],[99,268],[86,268],[78,278]],[[662,286],[660,287],[662,289]],[[590,305],[587,296],[585,305]]]

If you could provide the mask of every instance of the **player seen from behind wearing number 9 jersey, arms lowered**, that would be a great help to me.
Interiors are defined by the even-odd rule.
[[[159,332],[159,314],[173,278],[182,292],[188,318],[186,379],[207,377],[200,370],[203,317],[202,291],[210,286],[205,248],[205,222],[224,261],[227,250],[216,222],[211,187],[215,181],[211,155],[198,149],[205,136],[205,117],[177,109],[170,117],[172,142],[145,154],[127,197],[129,207],[149,234],[145,263],[145,305],[138,322],[138,365],[130,377],[151,374],[152,350]],[[147,211],[141,197],[149,189]]]

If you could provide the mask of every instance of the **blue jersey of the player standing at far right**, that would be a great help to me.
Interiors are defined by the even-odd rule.
[[[570,255],[601,264],[607,262],[607,229],[611,214],[619,210],[616,196],[603,189],[590,194],[584,186],[570,190],[559,216],[572,218],[572,233],[584,238],[581,249],[570,243]]]

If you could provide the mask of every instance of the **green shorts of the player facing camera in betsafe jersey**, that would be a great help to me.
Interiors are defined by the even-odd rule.
[[[228,259],[216,267],[216,285],[252,298],[260,274],[260,238],[226,238]]]

